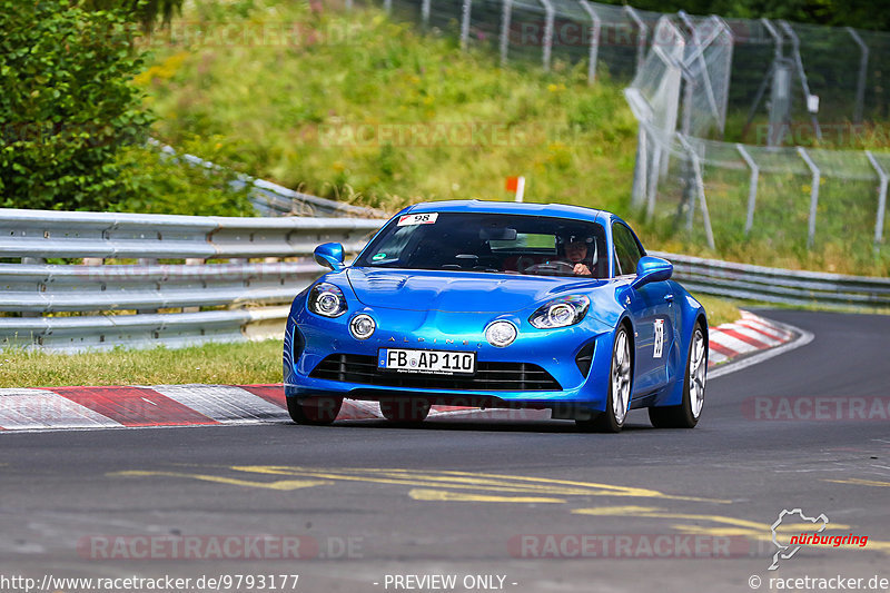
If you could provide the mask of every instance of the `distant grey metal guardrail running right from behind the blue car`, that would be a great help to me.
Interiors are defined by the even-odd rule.
[[[674,278],[693,293],[784,305],[890,307],[890,278],[768,268],[650,251],[674,265]]]

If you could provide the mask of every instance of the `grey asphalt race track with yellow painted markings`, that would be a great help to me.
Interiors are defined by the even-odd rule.
[[[485,417],[0,435],[0,575],[191,577],[184,591],[299,575],[274,585],[303,592],[768,591],[840,575],[873,591],[890,579],[890,316],[759,313],[815,338],[712,379],[694,431],[637,411],[619,435]],[[794,508],[868,543],[803,546],[768,571],[770,526]],[[818,526],[789,515],[778,538]]]

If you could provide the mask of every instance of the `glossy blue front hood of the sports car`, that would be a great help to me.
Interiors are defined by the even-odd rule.
[[[511,313],[605,284],[573,277],[367,268],[349,269],[346,276],[356,298],[369,307],[448,313]]]

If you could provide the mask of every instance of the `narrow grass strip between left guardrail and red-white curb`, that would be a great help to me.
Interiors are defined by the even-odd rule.
[[[68,385],[249,385],[281,382],[281,342],[206,344],[83,354],[0,350],[0,387]]]

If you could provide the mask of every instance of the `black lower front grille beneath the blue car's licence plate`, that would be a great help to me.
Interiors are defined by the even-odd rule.
[[[426,389],[479,392],[558,392],[558,382],[531,363],[476,362],[476,374],[421,375],[382,372],[376,356],[332,354],[309,374],[312,378],[380,385],[384,387],[418,387]]]

